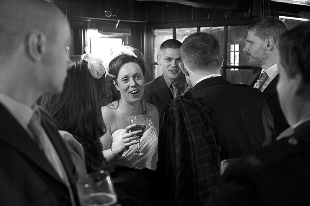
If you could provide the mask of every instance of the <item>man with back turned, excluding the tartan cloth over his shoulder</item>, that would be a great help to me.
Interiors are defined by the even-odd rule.
[[[272,116],[259,90],[220,75],[223,59],[214,35],[189,35],[181,46],[181,69],[192,96],[210,109],[220,159],[236,158],[271,143]]]

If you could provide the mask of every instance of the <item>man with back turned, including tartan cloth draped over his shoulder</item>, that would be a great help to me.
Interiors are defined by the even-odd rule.
[[[273,121],[262,93],[220,75],[219,42],[189,35],[180,67],[190,92],[164,107],[157,170],[168,205],[202,205],[219,178],[219,162],[271,143]]]

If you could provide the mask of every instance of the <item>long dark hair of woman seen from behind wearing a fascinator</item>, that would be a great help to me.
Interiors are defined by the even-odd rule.
[[[106,132],[101,114],[105,77],[94,78],[80,56],[72,56],[71,61],[62,93],[43,95],[39,104],[50,112],[60,130],[71,133],[83,145],[87,172],[94,172],[105,162],[99,139]]]

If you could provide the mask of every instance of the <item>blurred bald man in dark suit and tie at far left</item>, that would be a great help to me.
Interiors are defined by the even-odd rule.
[[[34,105],[62,91],[69,25],[43,0],[1,0],[0,19],[0,203],[79,205],[70,154],[52,118]]]

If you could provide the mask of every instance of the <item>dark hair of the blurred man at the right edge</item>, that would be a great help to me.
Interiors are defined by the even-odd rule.
[[[300,73],[310,84],[310,23],[303,23],[279,38],[280,63],[289,77]]]

